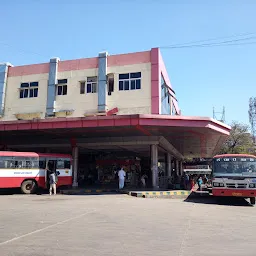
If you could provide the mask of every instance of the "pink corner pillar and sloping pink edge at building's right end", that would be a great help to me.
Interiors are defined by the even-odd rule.
[[[162,55],[159,48],[151,49],[151,113],[160,114],[161,110],[161,75],[163,76],[166,85],[169,87],[169,92],[172,95],[173,105],[178,114],[180,109],[178,102],[173,93],[171,82],[166,71]]]

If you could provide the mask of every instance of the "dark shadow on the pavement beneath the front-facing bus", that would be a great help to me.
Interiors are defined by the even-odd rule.
[[[216,205],[227,205],[227,206],[250,206],[252,205],[247,202],[244,198],[239,197],[214,197],[214,196],[200,196],[191,194],[187,199],[184,200],[187,203],[196,204],[216,204]]]

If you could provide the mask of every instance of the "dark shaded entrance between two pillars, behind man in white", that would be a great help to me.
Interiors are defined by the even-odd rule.
[[[118,171],[123,167],[126,172],[125,187],[140,188],[141,177],[147,176],[150,184],[150,166],[148,158],[136,156],[88,156],[79,157],[78,185],[84,188],[118,188]]]

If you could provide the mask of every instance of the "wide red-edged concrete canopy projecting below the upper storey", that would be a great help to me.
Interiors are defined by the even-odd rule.
[[[161,143],[165,143],[165,150],[172,147],[182,157],[212,157],[229,135],[230,129],[212,118],[168,115],[19,120],[0,123],[0,146],[15,150],[51,145],[56,145],[56,148],[71,147],[76,144],[87,151],[119,149],[142,152],[146,144],[143,147],[138,145],[134,141],[135,137],[143,136],[149,140],[158,136]],[[117,145],[117,138],[130,140],[130,144]],[[106,140],[112,142],[112,145],[107,145]]]

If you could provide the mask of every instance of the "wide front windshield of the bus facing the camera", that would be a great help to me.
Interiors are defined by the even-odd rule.
[[[214,158],[213,175],[256,177],[256,159],[237,156]]]

